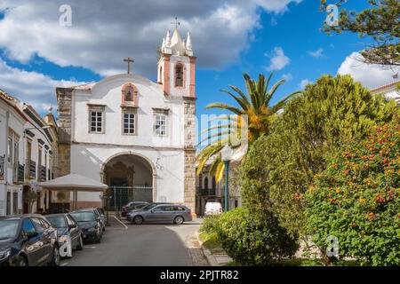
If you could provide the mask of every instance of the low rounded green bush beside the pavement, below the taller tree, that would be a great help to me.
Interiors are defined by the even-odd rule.
[[[222,248],[238,264],[268,265],[293,256],[298,248],[269,213],[259,217],[246,209],[234,209],[223,214],[214,228]]]

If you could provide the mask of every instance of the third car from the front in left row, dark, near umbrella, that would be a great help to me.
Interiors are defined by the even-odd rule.
[[[97,217],[92,209],[79,209],[70,215],[76,220],[82,230],[84,242],[93,241],[99,243],[103,234],[100,217]]]

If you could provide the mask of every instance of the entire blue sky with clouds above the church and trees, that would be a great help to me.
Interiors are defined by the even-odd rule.
[[[301,82],[315,82],[338,70],[369,88],[392,80],[391,70],[359,67],[350,58],[364,48],[366,39],[321,31],[326,13],[319,12],[318,0],[249,0],[245,4],[171,0],[169,5],[149,0],[143,4],[148,12],[127,15],[126,20],[125,11],[130,11],[124,7],[126,1],[100,5],[71,0],[75,21],[70,28],[56,23],[62,1],[38,2],[0,0],[0,88],[33,104],[42,114],[55,104],[55,86],[124,72],[126,56],[135,59],[133,73],[156,80],[156,43],[172,28],[175,15],[180,17],[181,34],[187,30],[193,34],[198,115],[215,113],[205,110],[209,103],[230,102],[220,89],[230,84],[244,88],[244,72],[252,77],[274,72],[272,83],[288,79],[272,103],[300,90]],[[366,7],[366,0],[346,4],[357,11]],[[278,64],[271,67],[274,58]]]

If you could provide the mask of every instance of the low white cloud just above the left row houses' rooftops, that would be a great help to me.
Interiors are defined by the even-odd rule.
[[[68,87],[81,83],[57,81],[40,73],[9,67],[0,59],[0,88],[20,101],[34,106],[38,112],[47,110],[49,106],[56,109],[56,87]]]

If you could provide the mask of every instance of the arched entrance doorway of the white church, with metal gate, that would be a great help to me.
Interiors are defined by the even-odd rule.
[[[137,154],[119,154],[104,163],[103,182],[108,185],[107,208],[120,210],[129,201],[154,200],[156,173],[151,162]]]

